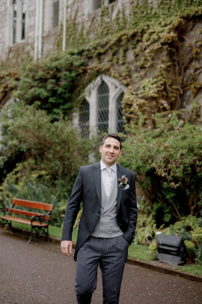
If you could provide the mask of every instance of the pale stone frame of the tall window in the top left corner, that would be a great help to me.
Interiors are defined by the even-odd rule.
[[[25,2],[26,11],[25,18],[23,19],[23,1]],[[16,30],[15,30],[15,40],[14,40],[14,2],[16,2]],[[10,45],[22,42],[25,40],[26,36],[26,19],[27,19],[27,0],[11,0],[10,1],[10,26],[11,26],[11,36]],[[23,30],[24,24],[24,30]],[[24,36],[23,35],[24,31]]]

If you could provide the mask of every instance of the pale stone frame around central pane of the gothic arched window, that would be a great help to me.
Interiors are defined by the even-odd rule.
[[[117,99],[121,93],[126,91],[126,87],[121,85],[118,80],[104,74],[99,75],[87,86],[84,96],[89,103],[89,130],[92,135],[97,133],[97,90],[102,81],[109,88],[109,132],[117,133]]]

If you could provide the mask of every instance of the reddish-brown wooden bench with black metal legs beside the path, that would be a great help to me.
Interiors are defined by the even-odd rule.
[[[13,199],[11,206],[4,208],[4,215],[0,215],[0,222],[3,226],[8,224],[11,229],[12,221],[31,225],[31,234],[28,244],[31,242],[34,233],[39,234],[42,232],[46,235],[48,240],[48,223],[53,208],[53,204]],[[16,214],[17,216],[14,216],[13,214]]]

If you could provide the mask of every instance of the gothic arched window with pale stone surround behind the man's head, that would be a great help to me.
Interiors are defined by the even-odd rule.
[[[104,74],[87,86],[90,134],[124,132],[121,102],[125,90],[116,79]]]

